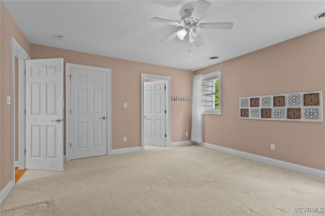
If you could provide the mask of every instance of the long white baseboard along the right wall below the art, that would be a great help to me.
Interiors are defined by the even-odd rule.
[[[276,160],[276,159],[272,159],[272,158],[267,158],[264,156],[254,155],[251,153],[242,152],[242,151],[238,151],[238,150],[234,150],[234,149],[229,149],[229,148],[225,148],[225,147],[221,147],[221,146],[216,146],[216,145],[212,145],[207,142],[203,142],[203,146],[207,147],[209,149],[217,150],[217,151],[228,153],[231,155],[236,155],[236,156],[246,158],[249,160],[254,160],[257,162],[281,167],[281,168],[288,169],[291,171],[302,172],[305,174],[310,174],[310,175],[325,178],[325,171],[323,171],[323,170],[314,169],[311,167],[302,166],[302,165],[289,163],[289,162],[285,162],[285,161],[280,161],[280,160]]]

